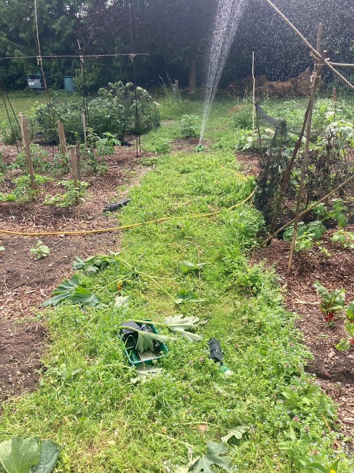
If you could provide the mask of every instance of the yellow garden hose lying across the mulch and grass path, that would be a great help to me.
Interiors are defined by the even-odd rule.
[[[232,205],[231,207],[228,207],[226,210],[232,210],[235,207],[237,207],[238,205],[244,204],[245,202],[247,202],[249,199],[252,198],[254,193],[255,193],[255,189],[242,202],[238,202],[237,204]],[[190,216],[182,217],[182,218],[185,218],[185,219],[199,219],[201,217],[210,217],[212,215],[217,215],[218,213],[221,213],[223,210],[217,210],[216,212],[210,212],[210,213],[200,213],[198,215],[190,215]],[[89,234],[89,233],[114,232],[116,230],[125,230],[126,228],[140,227],[142,225],[154,224],[154,223],[158,223],[158,222],[166,222],[168,220],[173,220],[173,219],[176,219],[176,218],[181,218],[181,217],[164,217],[163,219],[148,220],[147,222],[140,222],[140,223],[137,223],[137,224],[123,225],[122,227],[100,228],[100,229],[96,229],[96,230],[77,230],[77,231],[72,231],[72,232],[14,232],[12,230],[3,230],[3,229],[0,228],[0,233],[6,233],[8,235],[22,235],[22,236],[84,235],[84,234]]]

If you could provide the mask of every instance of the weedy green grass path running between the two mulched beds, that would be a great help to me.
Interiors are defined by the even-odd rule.
[[[217,134],[229,118],[212,120]],[[147,148],[154,133],[145,137]],[[158,133],[171,137],[175,128]],[[243,425],[248,430],[242,439],[229,441],[234,470],[306,472],[314,470],[303,465],[312,463],[330,470],[337,453],[325,419],[332,425],[333,403],[303,371],[307,352],[294,314],[282,306],[276,276],[249,266],[262,226],[259,212],[246,203],[208,219],[188,218],[247,197],[254,183],[239,171],[234,155],[214,146],[198,156],[164,156],[130,191],[120,224],[174,218],[124,232],[122,257],[166,278],[160,282],[170,293],[193,289],[204,302],[178,307],[152,283],[135,279],[122,290],[131,297],[129,306],[114,309],[116,289],[102,289],[113,271],[79,275],[107,307],[47,311],[50,343],[40,386],[4,404],[0,439],[40,435],[64,443],[58,472],[161,473],[185,471],[190,455],[204,454],[208,440],[218,443],[228,429]],[[205,266],[184,275],[182,260]],[[117,339],[119,323],[175,314],[199,317],[203,340],[171,336],[162,374],[132,385],[134,373]],[[231,376],[208,359],[210,337],[221,341]],[[344,453],[339,458],[337,471],[349,473],[349,460]]]

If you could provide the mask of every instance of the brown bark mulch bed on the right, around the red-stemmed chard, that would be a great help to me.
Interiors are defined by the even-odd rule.
[[[353,231],[353,227],[346,230]],[[327,327],[319,309],[320,298],[314,288],[317,279],[330,290],[345,288],[346,304],[354,299],[354,250],[345,249],[330,240],[335,230],[323,236],[323,245],[331,253],[329,259],[316,246],[308,251],[295,253],[293,270],[287,274],[290,244],[275,239],[271,245],[254,255],[254,262],[264,262],[274,267],[284,286],[285,304],[299,314],[297,326],[304,341],[313,354],[307,371],[315,373],[323,388],[339,404],[338,416],[344,434],[354,435],[354,349],[340,352],[335,349],[339,339],[345,337],[344,317],[336,317],[335,323]]]

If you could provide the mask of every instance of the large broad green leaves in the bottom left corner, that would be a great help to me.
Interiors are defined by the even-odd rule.
[[[58,460],[60,447],[51,440],[38,445],[38,438],[14,436],[0,444],[0,466],[6,473],[51,473]]]

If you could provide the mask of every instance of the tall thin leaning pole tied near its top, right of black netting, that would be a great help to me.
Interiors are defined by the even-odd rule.
[[[319,24],[318,35],[317,35],[317,50],[318,50],[318,52],[320,50],[320,45],[321,45],[321,35],[322,35],[322,23]],[[292,237],[290,254],[289,254],[288,274],[290,274],[290,272],[291,272],[291,264],[292,264],[292,259],[293,259],[293,256],[294,256],[296,236],[297,236],[296,235],[297,234],[297,226],[298,226],[298,223],[299,223],[300,204],[301,204],[301,200],[302,200],[302,192],[303,192],[303,187],[304,187],[305,174],[306,174],[307,166],[308,166],[308,149],[309,149],[309,141],[310,141],[310,137],[311,137],[312,112],[313,112],[313,108],[314,108],[314,101],[315,101],[317,86],[318,86],[318,83],[319,83],[319,79],[321,77],[322,67],[325,64],[326,54],[327,54],[327,51],[323,51],[322,56],[321,56],[321,62],[320,63],[315,63],[313,81],[312,81],[312,85],[311,85],[311,92],[310,92],[310,97],[309,97],[309,101],[308,101],[309,106],[308,106],[306,142],[305,142],[305,149],[304,149],[303,158],[302,158],[300,185],[299,185],[299,190],[298,190],[297,199],[296,199],[296,212],[295,212],[295,219],[294,219],[294,233],[293,233],[293,237]]]

